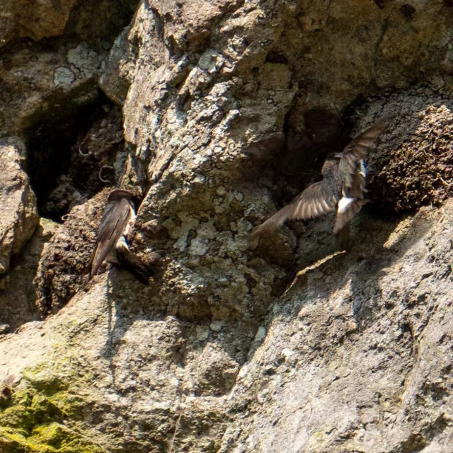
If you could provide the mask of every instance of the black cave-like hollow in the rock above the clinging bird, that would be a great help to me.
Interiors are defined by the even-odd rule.
[[[25,132],[26,168],[40,216],[61,222],[74,202],[74,192],[88,198],[105,185],[98,173],[103,164],[113,163],[114,153],[109,153],[107,162],[105,156],[82,148],[89,142],[93,125],[105,122],[114,107],[101,92],[88,103],[49,105]]]

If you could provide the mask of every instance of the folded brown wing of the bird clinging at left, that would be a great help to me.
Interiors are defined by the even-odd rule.
[[[117,240],[124,233],[130,220],[130,210],[130,202],[126,198],[110,201],[105,205],[96,238],[96,248],[88,264],[90,278],[96,274],[108,252],[115,247]]]

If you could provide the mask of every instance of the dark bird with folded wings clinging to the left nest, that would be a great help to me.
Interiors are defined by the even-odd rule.
[[[140,282],[148,284],[149,277],[154,273],[152,265],[162,256],[153,252],[149,263],[145,263],[129,250],[125,236],[134,224],[135,217],[137,216],[134,195],[127,190],[112,190],[105,204],[96,238],[96,248],[88,263],[88,280],[84,286],[96,275],[103,260],[119,265],[137,277]]]

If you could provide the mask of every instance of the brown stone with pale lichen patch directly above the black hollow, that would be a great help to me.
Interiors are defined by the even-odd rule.
[[[0,98],[6,101],[0,110],[1,133],[23,133],[40,122],[53,121],[58,128],[71,111],[96,101],[102,57],[76,41],[57,50],[31,42],[5,49],[0,55]]]

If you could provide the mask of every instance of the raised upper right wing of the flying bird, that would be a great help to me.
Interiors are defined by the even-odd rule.
[[[377,137],[382,134],[385,127],[385,120],[375,122],[372,127],[369,127],[365,132],[362,132],[358,137],[355,137],[355,139],[343,149],[343,156],[340,159],[340,164],[338,164],[338,171],[340,171],[343,187],[352,187],[353,178],[358,171],[359,161],[367,156],[369,148]]]

